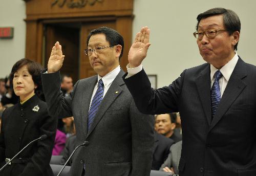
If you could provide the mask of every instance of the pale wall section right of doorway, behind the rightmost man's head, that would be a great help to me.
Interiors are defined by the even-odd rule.
[[[216,0],[134,0],[133,36],[142,26],[151,29],[152,43],[143,67],[158,75],[158,87],[174,81],[184,69],[204,63],[193,36],[197,15],[214,7],[231,9],[241,20],[238,54],[256,65],[256,1]]]

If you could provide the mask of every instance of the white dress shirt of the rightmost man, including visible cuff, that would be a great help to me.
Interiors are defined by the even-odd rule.
[[[236,67],[236,64],[238,62],[238,54],[236,53],[234,55],[234,57],[229,61],[227,62],[221,69],[221,73],[222,73],[222,77],[220,78],[219,80],[219,83],[220,83],[220,89],[221,89],[221,97],[226,89],[226,86],[227,86],[227,82],[234,70],[234,67]],[[130,68],[130,64],[128,63],[127,66],[127,76],[125,78],[129,78],[137,73],[139,73],[141,70],[142,70],[142,64],[140,64],[138,67],[136,68]],[[211,86],[212,84],[214,84],[214,80],[215,80],[215,77],[214,77],[214,74],[215,72],[217,71],[218,69],[214,67],[214,65],[210,64],[210,80],[211,80]],[[210,87],[211,87],[210,86]]]

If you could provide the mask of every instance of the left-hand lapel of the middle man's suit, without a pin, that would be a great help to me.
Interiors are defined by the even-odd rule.
[[[87,136],[87,123],[88,123],[88,112],[90,106],[90,100],[92,98],[93,90],[98,81],[98,76],[89,78],[89,80],[84,84],[84,92],[81,97],[81,121],[83,127],[84,136]]]

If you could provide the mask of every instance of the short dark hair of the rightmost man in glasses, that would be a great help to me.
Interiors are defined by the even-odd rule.
[[[197,23],[196,30],[198,30],[198,26],[201,19],[207,18],[209,16],[215,16],[215,15],[223,15],[223,24],[226,28],[225,30],[228,31],[229,35],[231,35],[235,31],[238,31],[240,33],[241,23],[238,15],[234,11],[229,9],[224,9],[224,8],[213,8],[203,13],[200,13],[197,16],[198,23]],[[238,42],[234,46],[234,50],[238,50]]]

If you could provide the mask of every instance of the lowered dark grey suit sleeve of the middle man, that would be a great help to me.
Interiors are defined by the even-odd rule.
[[[141,114],[134,101],[130,106],[132,125],[132,173],[134,176],[150,175],[155,140],[154,116]]]

